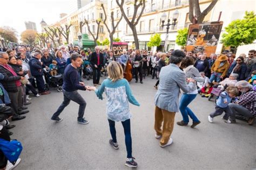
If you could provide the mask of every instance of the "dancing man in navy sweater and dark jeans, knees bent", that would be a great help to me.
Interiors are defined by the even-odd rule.
[[[88,124],[89,122],[83,118],[84,110],[86,107],[86,102],[84,98],[77,92],[77,90],[86,90],[88,86],[85,86],[83,82],[79,82],[78,80],[78,72],[77,68],[81,66],[82,57],[79,56],[78,53],[72,53],[71,55],[71,64],[66,66],[63,74],[63,95],[64,101],[59,106],[57,111],[52,115],[51,120],[60,122],[63,118],[59,118],[60,113],[64,110],[64,108],[69,105],[70,100],[79,104],[78,110],[78,118],[77,122],[82,124]]]

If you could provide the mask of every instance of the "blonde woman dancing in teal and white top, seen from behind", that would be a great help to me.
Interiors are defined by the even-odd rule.
[[[132,138],[130,125],[130,110],[129,102],[139,106],[140,104],[133,97],[129,82],[123,79],[123,68],[120,63],[112,61],[107,66],[107,73],[109,76],[102,82],[99,89],[90,87],[95,90],[99,99],[103,100],[102,94],[106,91],[107,96],[107,119],[109,121],[110,133],[112,139],[109,140],[110,145],[114,149],[118,149],[115,122],[122,122],[125,134],[125,145],[127,151],[126,166],[137,167],[137,162],[132,157]]]

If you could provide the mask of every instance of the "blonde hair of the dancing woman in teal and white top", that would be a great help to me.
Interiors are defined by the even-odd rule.
[[[119,79],[123,79],[123,68],[120,65],[120,63],[116,61],[112,61],[108,66],[107,66],[107,73],[109,74],[109,79],[112,80],[112,82],[116,82]]]

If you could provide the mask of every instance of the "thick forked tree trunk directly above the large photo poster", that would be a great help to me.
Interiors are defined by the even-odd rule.
[[[194,16],[196,16],[196,23],[203,23],[205,16],[209,13],[218,0],[212,0],[211,4],[203,11],[200,10],[199,0],[189,0],[188,18],[191,23],[194,23]]]

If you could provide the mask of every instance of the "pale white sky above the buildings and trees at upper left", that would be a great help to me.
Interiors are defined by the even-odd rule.
[[[1,0],[0,26],[13,27],[20,36],[26,30],[24,22],[31,21],[41,32],[42,19],[48,25],[54,24],[60,19],[60,13],[70,13],[76,9],[77,0]]]

